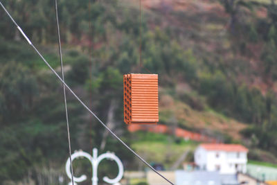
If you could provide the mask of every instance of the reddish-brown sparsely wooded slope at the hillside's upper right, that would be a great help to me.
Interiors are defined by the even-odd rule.
[[[253,0],[253,2],[267,4],[269,0]],[[225,12],[220,1],[213,0],[175,0],[150,1],[143,0],[146,8],[153,10],[156,16],[163,16],[161,28],[170,26],[176,30],[176,37],[184,49],[193,49],[199,60],[212,61],[215,68],[224,67],[230,76],[235,75],[238,82],[249,87],[257,87],[266,93],[271,88],[270,79],[262,76],[264,68],[260,61],[260,52],[264,43],[250,43],[246,46],[250,53],[247,57],[234,52],[232,40],[227,28],[231,17]],[[165,11],[168,13],[162,13]],[[267,10],[262,6],[253,8],[253,12],[245,14],[257,21],[267,17]],[[248,23],[247,23],[248,24]],[[201,63],[201,61],[199,61]],[[274,88],[277,91],[277,88]]]

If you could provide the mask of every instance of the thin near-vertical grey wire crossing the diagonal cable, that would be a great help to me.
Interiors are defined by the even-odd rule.
[[[57,14],[57,0],[55,0],[55,16],[56,16],[56,23],[57,23],[57,42],[59,43],[59,55],[60,55],[60,67],[62,72],[62,80],[64,80],[64,66],[62,62],[62,44],[60,42],[60,24],[59,24],[59,17]],[[69,113],[67,111],[67,101],[66,101],[66,91],[65,86],[62,84],[62,89],[64,91],[64,109],[65,109],[65,116],[66,116],[66,127],[67,127],[67,139],[69,142],[69,159],[70,159],[70,166],[71,166],[71,182],[74,185],[74,175],[73,175],[73,165],[71,159],[71,140],[70,140],[70,130],[69,130]]]

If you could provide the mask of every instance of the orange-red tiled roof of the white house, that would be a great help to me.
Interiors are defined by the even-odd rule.
[[[200,146],[206,150],[226,151],[226,152],[248,152],[247,148],[238,144],[203,143]]]

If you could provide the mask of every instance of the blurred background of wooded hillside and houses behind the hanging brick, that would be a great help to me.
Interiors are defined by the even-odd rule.
[[[55,1],[1,2],[60,73]],[[58,9],[65,81],[154,168],[175,184],[274,184],[275,0],[141,0],[141,21],[139,0],[60,0]],[[159,123],[127,127],[123,74],[139,71],[159,74]],[[114,152],[125,167],[121,184],[166,184],[67,97],[73,152]],[[63,103],[62,85],[1,9],[0,184],[70,182]],[[235,171],[224,179],[225,161],[211,169],[198,164],[202,150],[213,152],[215,161],[244,159],[230,163]],[[74,161],[73,169],[75,176],[88,176],[80,184],[91,184],[85,159]],[[115,177],[115,169],[103,161],[99,184]]]

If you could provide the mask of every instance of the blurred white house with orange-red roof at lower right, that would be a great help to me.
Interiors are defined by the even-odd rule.
[[[205,143],[195,150],[195,164],[200,170],[220,174],[247,172],[247,148],[235,144]]]

